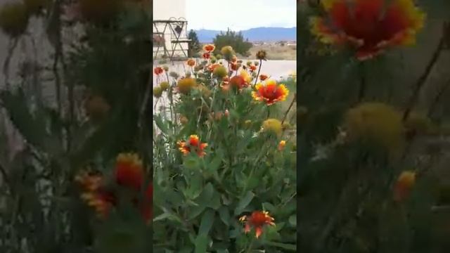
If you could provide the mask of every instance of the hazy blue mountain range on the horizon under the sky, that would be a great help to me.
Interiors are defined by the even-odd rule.
[[[220,34],[218,30],[195,30],[198,40],[201,43],[212,42],[216,34]],[[223,31],[226,32],[226,31]],[[254,41],[296,41],[297,28],[283,28],[283,27],[257,27],[249,30],[240,31],[245,39],[251,42]]]

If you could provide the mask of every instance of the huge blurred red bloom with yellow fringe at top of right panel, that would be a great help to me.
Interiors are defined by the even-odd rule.
[[[387,48],[415,43],[425,13],[413,0],[324,0],[326,16],[311,19],[323,43],[356,48],[356,58],[373,58]]]

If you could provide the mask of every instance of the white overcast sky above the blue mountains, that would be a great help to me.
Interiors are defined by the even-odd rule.
[[[188,29],[295,27],[296,0],[186,0]]]

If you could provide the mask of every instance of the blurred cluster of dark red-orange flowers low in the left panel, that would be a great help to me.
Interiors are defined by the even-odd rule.
[[[139,209],[143,219],[147,222],[152,217],[153,185],[146,186],[143,197],[141,190],[144,184],[144,171],[141,160],[136,154],[122,153],[117,156],[114,181],[105,181],[101,174],[82,171],[75,177],[75,181],[82,187],[82,200],[93,208],[99,218],[106,218],[111,209],[117,206],[118,192],[121,188],[132,193],[131,202]],[[140,201],[140,199],[143,199]]]

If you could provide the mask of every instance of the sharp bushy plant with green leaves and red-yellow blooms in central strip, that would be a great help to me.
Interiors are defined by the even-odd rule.
[[[214,56],[217,50],[223,58]],[[288,88],[267,76],[255,85],[257,66],[243,65],[231,46],[207,44],[203,51],[208,56],[188,60],[184,74],[155,73],[170,88],[153,116],[155,191],[161,196],[155,199],[153,242],[170,240],[161,250],[278,250],[269,242],[295,250],[295,136],[282,140],[278,119],[283,101],[292,99]],[[272,226],[275,218],[288,225]],[[255,235],[247,235],[251,229]],[[178,232],[169,238],[164,231]]]

